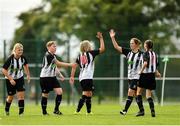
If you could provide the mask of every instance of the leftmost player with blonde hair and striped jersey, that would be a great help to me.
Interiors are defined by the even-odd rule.
[[[18,98],[19,115],[22,115],[24,112],[24,70],[26,72],[27,80],[29,83],[30,73],[28,62],[23,56],[23,45],[20,43],[16,43],[13,47],[12,54],[5,61],[2,69],[2,73],[6,78],[6,88],[8,93],[5,105],[6,115],[9,115],[9,109],[16,91]]]

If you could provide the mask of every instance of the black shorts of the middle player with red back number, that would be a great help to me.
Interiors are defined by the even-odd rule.
[[[80,81],[81,87],[83,91],[93,91],[94,85],[92,79],[85,79]]]

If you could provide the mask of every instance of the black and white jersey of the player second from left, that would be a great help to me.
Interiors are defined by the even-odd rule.
[[[43,58],[40,77],[55,77],[56,76],[56,55],[46,52]]]

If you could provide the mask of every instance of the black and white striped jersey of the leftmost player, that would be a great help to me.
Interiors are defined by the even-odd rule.
[[[28,62],[23,55],[16,59],[14,54],[12,54],[5,61],[3,68],[8,70],[8,74],[12,76],[13,79],[19,79],[24,76],[23,66],[26,64],[28,64]]]

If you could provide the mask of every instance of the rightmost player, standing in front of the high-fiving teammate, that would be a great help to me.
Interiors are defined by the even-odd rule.
[[[143,66],[139,72],[140,80],[137,88],[137,101],[140,111],[136,116],[144,115],[144,107],[142,102],[142,91],[146,89],[146,98],[149,102],[151,116],[155,117],[154,102],[152,99],[152,90],[156,89],[155,76],[161,77],[161,74],[157,70],[158,59],[157,54],[152,50],[153,42],[146,40],[144,43],[145,52],[143,54]]]

